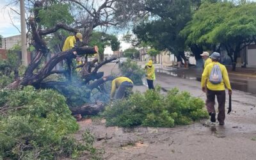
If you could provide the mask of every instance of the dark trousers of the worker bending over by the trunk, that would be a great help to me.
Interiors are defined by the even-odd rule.
[[[133,84],[131,82],[123,82],[120,84],[117,92],[116,99],[123,99],[124,97],[128,97],[132,93]]]

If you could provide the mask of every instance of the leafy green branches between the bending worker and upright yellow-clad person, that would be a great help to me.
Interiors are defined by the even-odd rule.
[[[142,78],[145,75],[144,70],[141,68],[140,65],[137,64],[136,61],[132,61],[128,59],[124,63],[122,63],[120,70],[122,75],[125,77],[129,77],[132,80],[133,84],[141,85]]]

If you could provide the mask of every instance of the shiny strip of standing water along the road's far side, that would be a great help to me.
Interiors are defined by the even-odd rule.
[[[196,68],[157,68],[156,72],[168,74],[173,77],[201,81],[202,70]],[[232,89],[256,94],[256,78],[229,75]]]

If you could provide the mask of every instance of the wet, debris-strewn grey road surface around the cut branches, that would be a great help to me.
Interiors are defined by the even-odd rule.
[[[118,72],[113,64],[101,70],[106,76],[111,70]],[[155,84],[164,90],[178,87],[205,99],[198,81],[163,72],[157,72],[156,78]],[[144,92],[146,87],[134,86],[134,90]],[[104,150],[103,159],[256,159],[255,104],[255,95],[234,90],[232,113],[226,116],[224,126],[202,120],[175,128],[124,129],[105,127],[104,120],[89,119],[79,122],[76,138],[89,129],[96,138],[94,146]]]

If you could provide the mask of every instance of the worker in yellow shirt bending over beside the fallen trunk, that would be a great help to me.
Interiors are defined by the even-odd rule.
[[[116,88],[118,91],[116,92]],[[111,99],[115,97],[116,92],[116,99],[122,99],[127,97],[133,88],[133,82],[131,79],[127,77],[117,77],[112,81],[112,88],[111,88]]]

